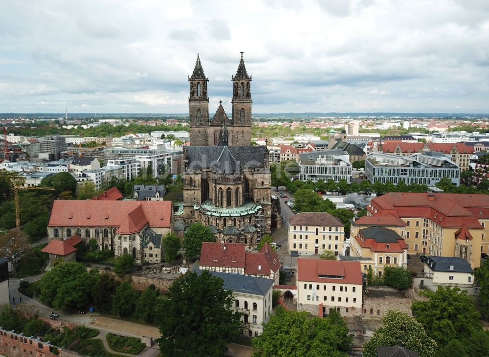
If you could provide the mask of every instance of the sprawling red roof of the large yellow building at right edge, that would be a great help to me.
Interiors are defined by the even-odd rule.
[[[376,217],[429,218],[442,227],[482,229],[478,219],[489,218],[489,199],[483,194],[389,192],[371,205],[367,209]]]

